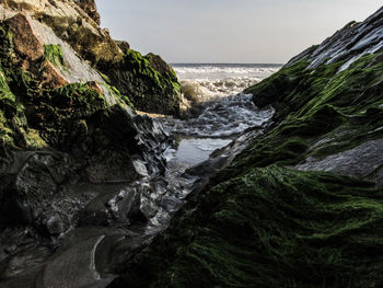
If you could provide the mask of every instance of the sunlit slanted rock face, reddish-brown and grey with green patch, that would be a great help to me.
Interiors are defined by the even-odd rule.
[[[106,85],[100,73],[80,58],[70,45],[57,37],[50,27],[23,13],[5,20],[4,26],[12,34],[14,66],[33,73],[43,87],[53,89],[77,82]],[[103,93],[102,88],[98,90]],[[107,90],[105,94],[109,104],[116,103]]]

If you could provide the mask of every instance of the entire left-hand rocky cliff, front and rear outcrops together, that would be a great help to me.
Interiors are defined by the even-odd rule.
[[[107,228],[160,209],[171,139],[135,106],[177,114],[179,84],[98,24],[94,1],[0,1],[0,287],[95,285]]]

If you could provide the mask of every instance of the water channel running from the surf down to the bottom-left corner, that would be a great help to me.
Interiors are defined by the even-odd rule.
[[[187,195],[262,133],[254,127],[267,125],[272,107],[258,110],[251,95],[240,92],[279,68],[174,65],[190,113],[183,119],[153,119],[153,129],[173,136],[173,145],[162,155],[148,154],[136,162],[142,175],[137,182],[79,185],[79,192],[96,195],[79,226],[55,240],[54,250],[32,246],[0,263],[2,275],[10,278],[0,280],[0,287],[107,287],[123,263],[167,227]],[[162,160],[164,173],[154,169]]]

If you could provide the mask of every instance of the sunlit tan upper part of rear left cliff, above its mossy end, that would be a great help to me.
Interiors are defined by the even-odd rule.
[[[0,9],[2,18],[23,12],[45,23],[93,65],[117,61],[123,57],[108,32],[94,20],[96,10],[92,1],[4,0]]]

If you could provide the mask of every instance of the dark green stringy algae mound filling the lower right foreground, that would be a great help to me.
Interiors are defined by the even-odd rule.
[[[249,169],[188,204],[130,263],[126,280],[132,287],[379,287],[382,196],[371,183],[330,173]]]

